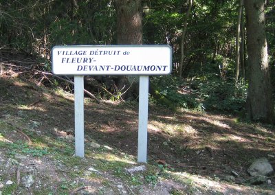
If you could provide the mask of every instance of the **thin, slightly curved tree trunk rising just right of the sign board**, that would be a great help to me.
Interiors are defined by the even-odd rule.
[[[185,35],[186,35],[186,30],[187,30],[187,21],[188,21],[188,17],[190,15],[190,12],[191,12],[191,8],[192,8],[192,0],[189,0],[189,3],[188,3],[188,10],[187,10],[187,13],[186,13],[186,16],[184,18],[184,29],[182,31],[182,34],[181,34],[181,44],[180,44],[180,47],[181,47],[181,58],[180,58],[180,61],[179,61],[179,78],[182,77],[182,71],[184,71],[184,40],[185,40]]]

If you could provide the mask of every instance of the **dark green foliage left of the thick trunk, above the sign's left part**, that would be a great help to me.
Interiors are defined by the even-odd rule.
[[[0,44],[46,58],[54,45],[111,44],[110,1],[0,1]]]

